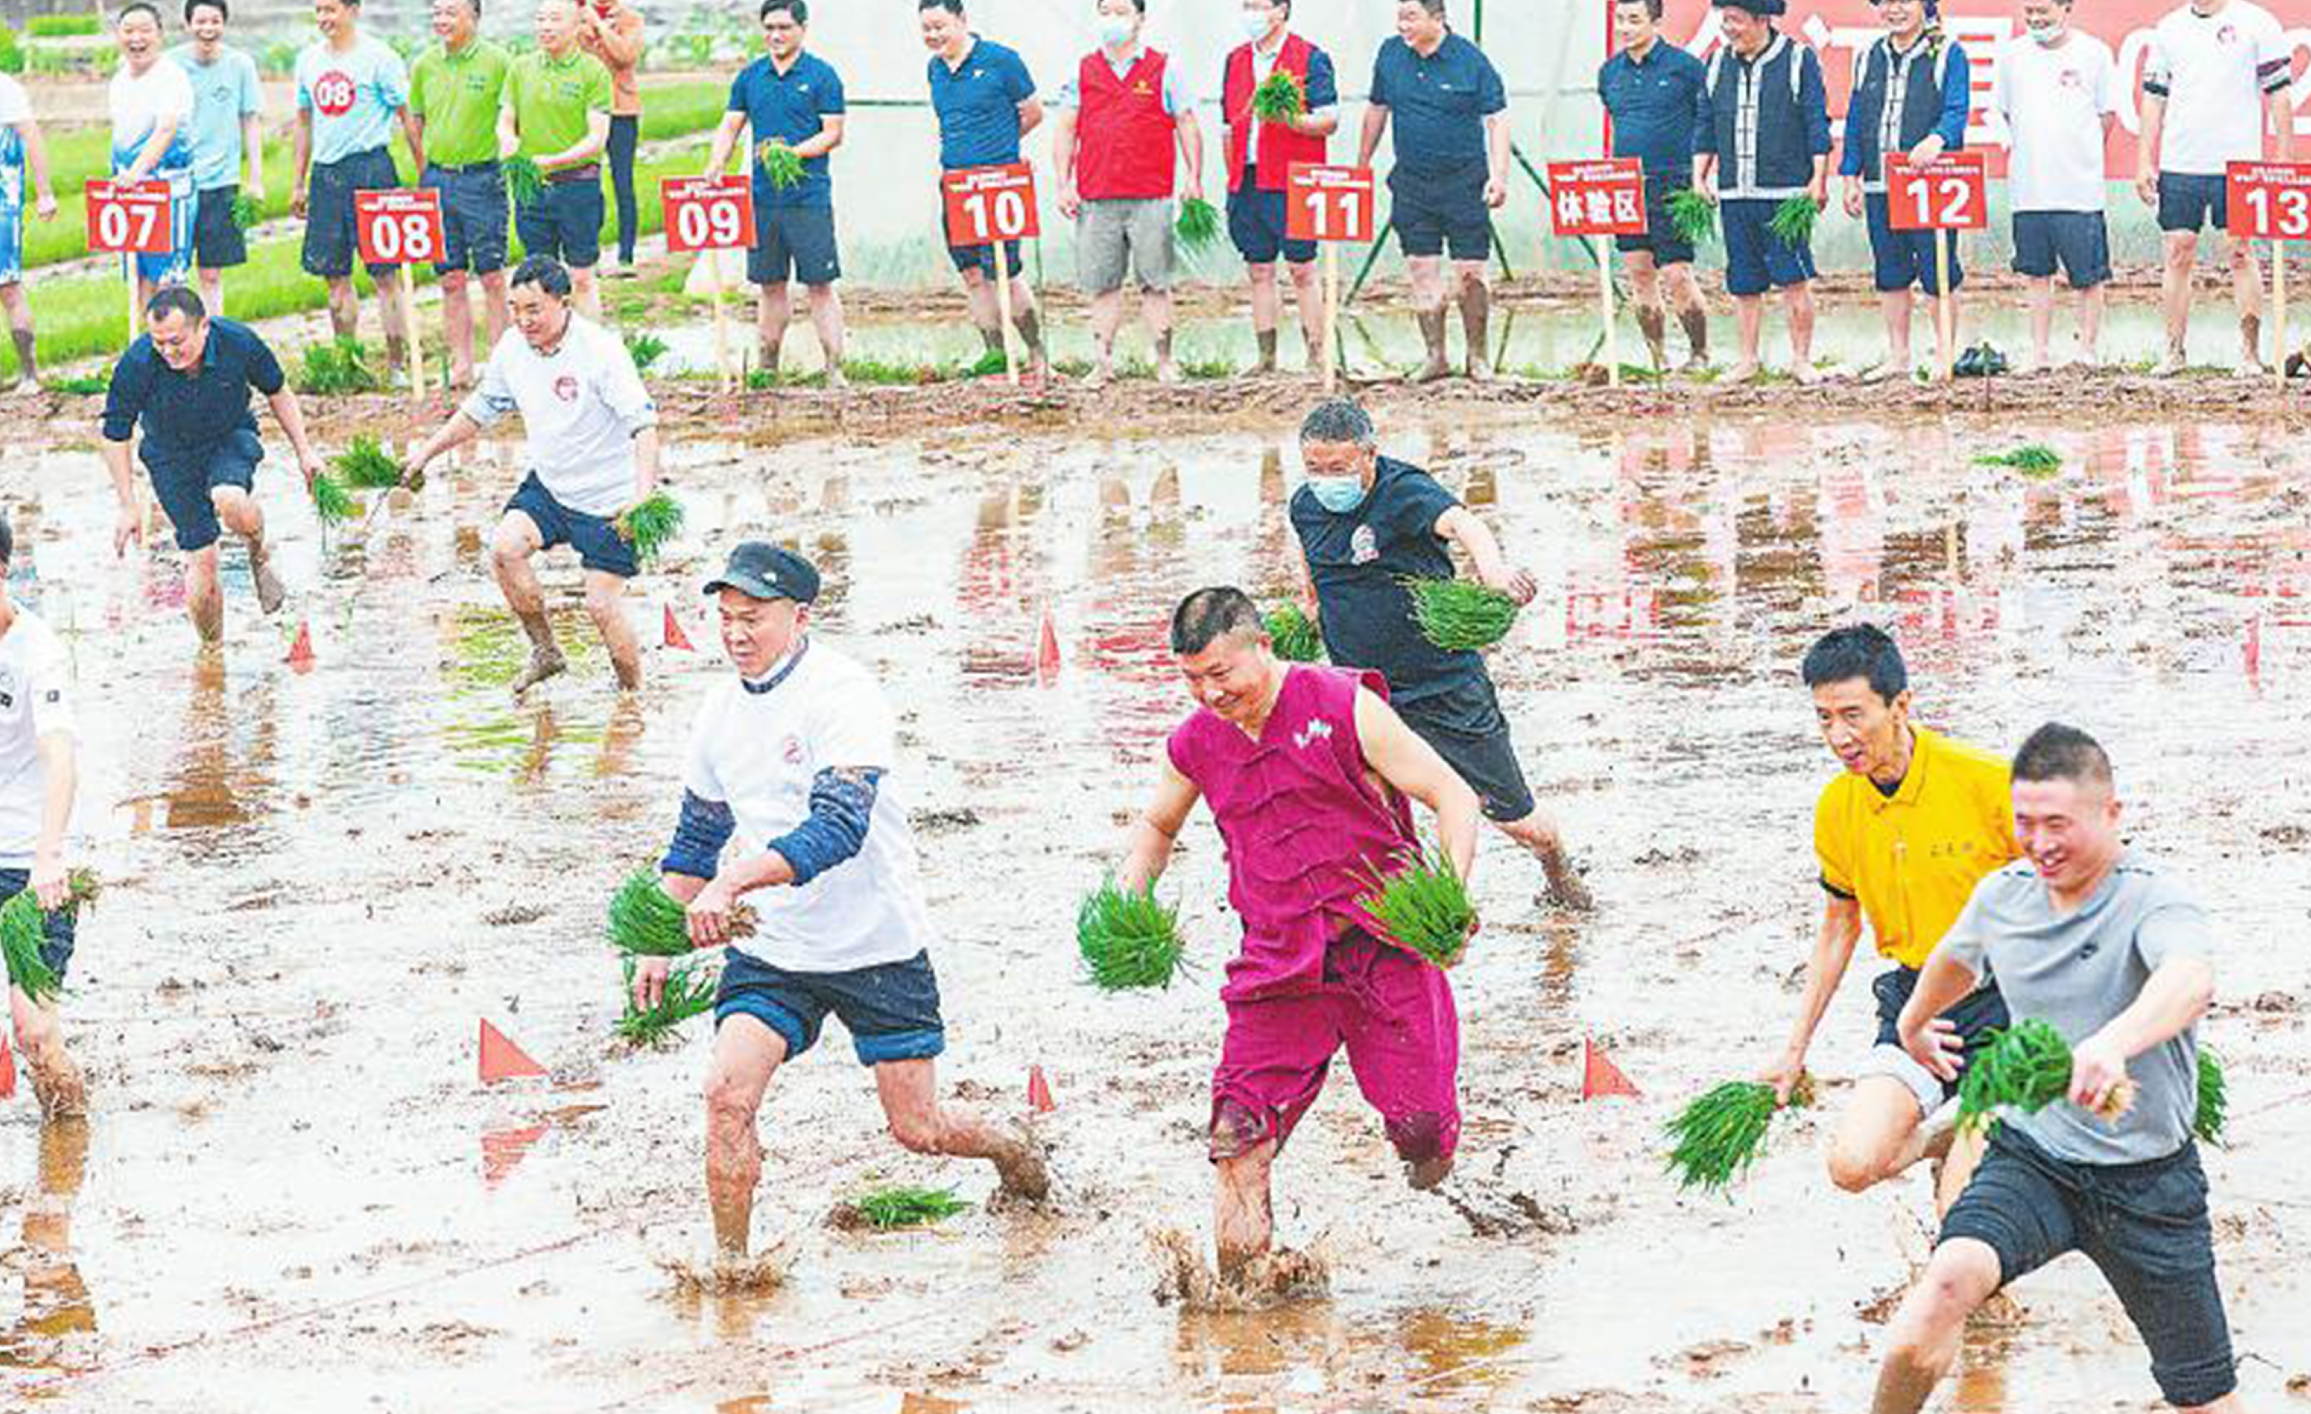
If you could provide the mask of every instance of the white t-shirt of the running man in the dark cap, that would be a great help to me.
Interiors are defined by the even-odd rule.
[[[915,871],[915,834],[894,786],[897,723],[880,684],[825,642],[767,693],[726,677],[691,728],[684,788],[723,802],[737,820],[733,850],[760,853],[811,813],[823,769],[880,769],[860,853],[802,887],[756,890],[758,922],[740,952],[790,973],[846,973],[906,961],[931,945],[931,915]]]

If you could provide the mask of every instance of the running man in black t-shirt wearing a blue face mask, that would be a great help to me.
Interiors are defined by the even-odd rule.
[[[1518,603],[1532,601],[1532,575],[1507,561],[1493,531],[1435,476],[1382,457],[1377,441],[1373,418],[1345,397],[1317,404],[1301,423],[1308,483],[1292,492],[1290,508],[1301,601],[1315,610],[1331,661],[1380,672],[1398,716],[1477,790],[1486,820],[1532,850],[1548,876],[1548,901],[1585,910],[1588,887],[1516,765],[1484,654],[1428,642],[1403,585],[1456,575],[1454,545],[1467,552],[1477,580]]]

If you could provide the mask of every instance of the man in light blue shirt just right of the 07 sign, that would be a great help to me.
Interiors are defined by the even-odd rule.
[[[224,312],[226,266],[250,261],[250,245],[233,219],[243,155],[250,162],[250,201],[263,206],[266,199],[257,60],[224,42],[229,18],[226,0],[185,0],[192,44],[169,51],[192,79],[192,263],[201,270],[201,303],[217,314]]]

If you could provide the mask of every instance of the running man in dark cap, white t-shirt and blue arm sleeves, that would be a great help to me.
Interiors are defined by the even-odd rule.
[[[770,1077],[811,1049],[827,1014],[874,1067],[901,1146],[984,1158],[1003,1192],[1040,1199],[1033,1134],[938,1100],[948,1033],[906,797],[890,781],[897,721],[864,668],[809,635],[818,568],[749,541],[705,591],[737,675],[714,684],[691,728],[682,820],[659,869],[689,906],[691,943],[726,947],[705,1084],[719,1252],[746,1255]],[[740,896],[756,915],[746,936],[730,926]],[[633,1005],[656,1005],[666,975],[668,959],[645,959]]]

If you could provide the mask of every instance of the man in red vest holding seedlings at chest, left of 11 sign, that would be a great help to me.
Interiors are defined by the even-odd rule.
[[[1220,116],[1227,125],[1227,238],[1253,277],[1253,333],[1259,372],[1276,372],[1276,256],[1292,266],[1308,372],[1324,367],[1324,296],[1315,286],[1315,240],[1285,240],[1285,178],[1294,162],[1324,162],[1324,139],[1340,127],[1331,55],[1292,35],[1292,0],[1243,0],[1243,35],[1227,55]],[[1269,74],[1301,85],[1301,113],[1287,122],[1253,118],[1253,92]]]

